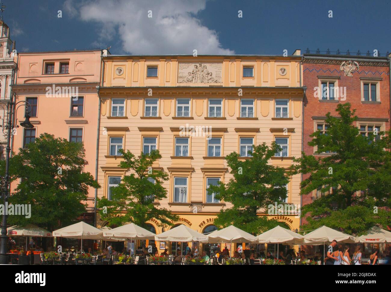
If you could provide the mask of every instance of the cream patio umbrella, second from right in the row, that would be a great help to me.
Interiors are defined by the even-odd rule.
[[[323,245],[323,259],[325,258],[325,244],[330,244],[333,240],[343,243],[355,243],[356,238],[352,235],[334,230],[325,225],[311,231],[304,236],[303,245]],[[323,262],[323,264],[325,264]]]

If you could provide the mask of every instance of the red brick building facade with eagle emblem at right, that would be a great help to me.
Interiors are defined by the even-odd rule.
[[[357,127],[363,134],[375,128],[378,131],[390,129],[389,66],[386,57],[303,55],[303,84],[307,87],[303,103],[305,154],[314,154],[314,147],[308,146],[312,139],[309,135],[317,129],[327,131],[326,113],[336,115],[338,103],[352,104],[358,116]],[[308,175],[303,175],[303,180],[306,178]],[[303,195],[301,205],[322,195],[320,190]]]

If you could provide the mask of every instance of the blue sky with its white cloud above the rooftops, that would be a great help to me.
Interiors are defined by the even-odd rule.
[[[105,48],[112,54],[391,51],[391,0],[17,0],[3,20],[18,51]],[[62,11],[62,18],[57,11]],[[238,11],[242,10],[242,18]],[[333,17],[328,17],[332,10]],[[152,17],[148,17],[152,11]]]

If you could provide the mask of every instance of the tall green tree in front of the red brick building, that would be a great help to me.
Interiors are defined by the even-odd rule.
[[[310,135],[308,145],[316,147],[315,155],[323,155],[303,153],[292,165],[294,173],[309,174],[301,182],[301,195],[317,189],[325,194],[302,207],[301,216],[308,221],[303,229],[327,225],[361,234],[362,227],[385,227],[391,223],[382,211],[391,206],[390,132],[373,129],[368,136],[361,135],[350,103],[338,104],[336,111],[339,117],[326,114],[326,134],[316,131]],[[379,207],[381,212],[374,212]]]

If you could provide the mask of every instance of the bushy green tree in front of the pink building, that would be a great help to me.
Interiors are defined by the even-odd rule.
[[[41,134],[10,159],[11,181],[21,179],[9,197],[12,204],[30,204],[31,218],[8,216],[10,224],[34,224],[54,230],[71,223],[86,212],[89,187],[99,188],[89,172],[84,172],[83,143]],[[4,176],[5,161],[0,161]]]

